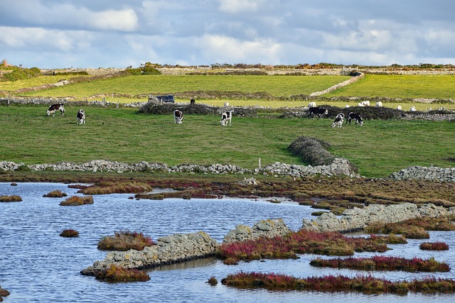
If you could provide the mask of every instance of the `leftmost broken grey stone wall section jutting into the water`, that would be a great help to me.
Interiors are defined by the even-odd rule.
[[[144,250],[112,251],[105,260],[96,261],[81,271],[82,275],[95,275],[99,270],[117,265],[122,268],[153,268],[159,265],[183,262],[213,255],[220,244],[207,233],[174,234],[159,238],[156,245]]]

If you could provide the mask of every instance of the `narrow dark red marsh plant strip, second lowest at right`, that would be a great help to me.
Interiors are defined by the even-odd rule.
[[[450,266],[434,258],[400,258],[375,255],[371,258],[316,258],[310,261],[315,267],[350,268],[355,270],[403,270],[406,272],[448,272]]]

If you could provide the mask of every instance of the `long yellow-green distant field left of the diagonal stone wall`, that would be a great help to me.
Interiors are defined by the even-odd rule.
[[[274,97],[311,94],[349,79],[348,76],[200,76],[144,75],[72,84],[26,94],[80,99],[95,94],[175,94],[176,92],[266,92]]]

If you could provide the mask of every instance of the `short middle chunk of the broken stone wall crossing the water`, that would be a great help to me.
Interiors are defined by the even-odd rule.
[[[284,224],[283,219],[262,220],[255,225],[237,225],[232,229],[225,238],[224,243],[232,243],[237,241],[255,240],[261,236],[273,238],[276,236],[285,236],[291,232],[291,229]]]

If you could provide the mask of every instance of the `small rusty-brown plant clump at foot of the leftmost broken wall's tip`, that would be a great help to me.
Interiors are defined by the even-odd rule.
[[[150,280],[150,276],[142,270],[121,268],[116,265],[110,265],[109,268],[98,271],[95,274],[95,278],[109,283],[145,282]]]

